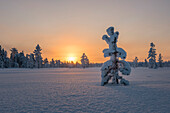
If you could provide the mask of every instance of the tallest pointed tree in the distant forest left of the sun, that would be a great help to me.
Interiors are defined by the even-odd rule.
[[[41,47],[39,46],[39,44],[37,44],[36,49],[34,50],[36,68],[41,68],[42,66],[41,50]]]

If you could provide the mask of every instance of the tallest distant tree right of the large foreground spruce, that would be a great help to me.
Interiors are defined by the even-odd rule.
[[[149,54],[148,54],[148,59],[149,59],[149,68],[157,68],[157,64],[156,64],[156,49],[155,49],[155,44],[152,42],[150,43],[150,50],[149,50]]]

